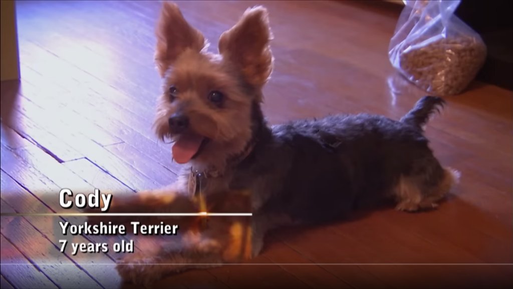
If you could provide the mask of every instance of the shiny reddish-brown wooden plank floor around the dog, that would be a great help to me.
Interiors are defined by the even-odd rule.
[[[388,42],[400,12],[393,5],[186,1],[180,6],[215,48],[247,7],[262,3],[275,36],[275,70],[264,105],[271,123],[336,112],[398,119],[424,95],[389,64]],[[157,143],[151,131],[161,90],[152,63],[159,7],[151,1],[17,2],[22,81],[20,87],[2,83],[2,106],[18,95],[21,114],[2,131],[2,213],[58,211],[63,187],[133,192],[175,179],[170,147]],[[154,287],[511,286],[512,93],[477,83],[447,101],[427,135],[443,165],[460,170],[462,179],[437,211],[405,214],[390,208],[306,232],[285,230],[269,238],[251,265],[191,271]],[[16,144],[7,143],[7,133],[14,133]],[[117,276],[116,254],[60,253],[52,218],[2,217],[2,288],[135,287]],[[73,240],[120,238],[106,239]],[[380,265],[386,263],[396,265]]]

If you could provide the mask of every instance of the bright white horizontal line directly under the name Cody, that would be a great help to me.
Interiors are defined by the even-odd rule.
[[[2,217],[194,217],[194,216],[209,216],[209,217],[246,217],[253,216],[252,213],[34,213],[34,214],[19,214],[19,213],[2,213]]]

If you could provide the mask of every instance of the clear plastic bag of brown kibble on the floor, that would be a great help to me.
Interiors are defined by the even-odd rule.
[[[388,47],[390,63],[419,88],[440,96],[462,92],[486,60],[481,36],[454,12],[460,0],[404,0]]]

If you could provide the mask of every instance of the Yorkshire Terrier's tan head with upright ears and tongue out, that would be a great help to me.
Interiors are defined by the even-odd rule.
[[[207,52],[204,35],[171,2],[164,2],[155,33],[155,62],[164,81],[157,136],[174,142],[178,163],[223,166],[251,140],[252,108],[262,102],[272,71],[267,10],[246,10],[221,35],[217,54]]]

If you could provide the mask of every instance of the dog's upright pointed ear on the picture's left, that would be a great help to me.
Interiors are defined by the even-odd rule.
[[[155,29],[155,64],[161,77],[184,51],[200,53],[207,45],[203,34],[190,26],[178,6],[164,1]]]

